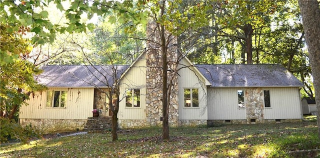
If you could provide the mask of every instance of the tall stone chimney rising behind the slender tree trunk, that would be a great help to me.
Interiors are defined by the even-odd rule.
[[[150,40],[160,43],[159,31],[155,29],[156,23],[151,21],[147,26],[147,36]],[[171,43],[176,43],[176,37],[168,39]],[[160,45],[147,41],[146,50],[146,125],[156,126],[162,124],[162,52]],[[171,95],[169,97],[169,125],[178,125],[178,81],[177,74],[177,47],[168,44],[167,50],[168,83],[172,81]]]

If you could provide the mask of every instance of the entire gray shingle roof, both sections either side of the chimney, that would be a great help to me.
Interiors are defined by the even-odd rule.
[[[304,86],[280,64],[196,64],[211,87]],[[118,77],[129,65],[115,65]],[[111,65],[45,65],[36,80],[48,87],[108,87]],[[98,77],[97,77],[98,76]],[[106,81],[107,80],[107,81]]]

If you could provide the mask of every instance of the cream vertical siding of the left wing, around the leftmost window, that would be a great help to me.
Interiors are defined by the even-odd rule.
[[[42,119],[87,119],[92,117],[93,88],[49,88],[48,90],[67,90],[67,102],[64,108],[46,107],[47,91],[30,94],[22,105],[19,118]]]

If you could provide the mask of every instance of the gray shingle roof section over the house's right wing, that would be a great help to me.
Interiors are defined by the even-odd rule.
[[[197,64],[211,87],[304,86],[280,64]]]

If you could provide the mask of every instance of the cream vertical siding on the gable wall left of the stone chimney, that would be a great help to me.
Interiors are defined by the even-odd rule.
[[[119,119],[145,119],[145,54],[136,61],[121,79]],[[125,90],[140,89],[140,107],[125,107]]]

